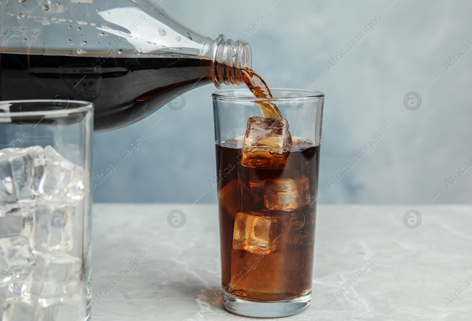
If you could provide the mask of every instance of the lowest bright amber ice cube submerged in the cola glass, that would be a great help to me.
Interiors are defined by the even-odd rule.
[[[254,254],[269,254],[276,250],[278,220],[266,212],[239,212],[233,232],[233,248]]]

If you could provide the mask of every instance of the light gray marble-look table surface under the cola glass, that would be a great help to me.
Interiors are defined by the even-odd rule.
[[[186,217],[179,229],[168,224],[176,209]],[[421,213],[416,229],[404,223],[411,209]],[[217,213],[214,204],[94,204],[92,320],[251,319],[221,302]],[[323,205],[317,216],[312,303],[275,320],[472,319],[472,206]]]

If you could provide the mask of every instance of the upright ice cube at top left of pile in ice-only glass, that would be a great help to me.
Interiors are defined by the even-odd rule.
[[[36,185],[43,175],[46,162],[44,149],[41,146],[22,148],[13,153],[9,161],[17,199],[34,200],[35,191],[32,186]]]

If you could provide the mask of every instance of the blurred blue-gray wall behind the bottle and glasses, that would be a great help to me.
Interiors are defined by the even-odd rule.
[[[253,69],[271,87],[326,94],[320,162],[321,203],[470,203],[472,169],[445,180],[471,156],[472,51],[445,61],[472,38],[467,0],[161,0],[203,35],[246,37]],[[376,16],[362,41],[350,43]],[[250,29],[253,29],[250,27]],[[471,39],[472,41],[472,39]],[[329,70],[327,61],[353,49]],[[316,81],[316,83],[315,83]],[[314,83],[314,84],[313,84]],[[143,121],[95,134],[93,176],[135,138],[146,139],[94,190],[96,202],[216,202],[212,85],[185,94],[185,109],[164,106]],[[417,92],[421,108],[404,96]],[[159,121],[158,121],[159,120]],[[158,121],[156,123],[156,121]],[[393,121],[393,123],[392,123]],[[151,128],[152,127],[152,128]],[[211,134],[210,134],[211,133]],[[327,180],[376,133],[382,139],[335,185]],[[463,170],[464,171],[464,170]],[[469,173],[470,172],[470,173]],[[449,179],[450,182],[453,182]]]

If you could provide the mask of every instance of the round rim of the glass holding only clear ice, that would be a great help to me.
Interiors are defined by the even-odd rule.
[[[51,103],[51,106],[56,104],[67,104],[62,110],[35,110],[35,111],[21,111],[21,112],[2,112],[3,108],[9,107],[12,104],[21,103]],[[69,107],[69,104],[78,104],[78,106]],[[71,114],[86,113],[93,110],[93,103],[84,100],[71,100],[71,99],[23,99],[23,100],[1,100],[0,101],[0,119],[1,118],[15,118],[15,117],[28,117],[28,116],[44,116],[45,118],[50,117],[67,117]],[[4,109],[3,109],[4,110]]]

